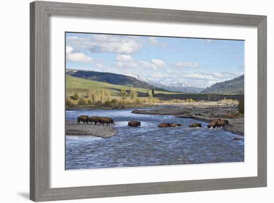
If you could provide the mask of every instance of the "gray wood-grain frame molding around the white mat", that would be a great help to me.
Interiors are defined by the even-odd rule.
[[[190,22],[258,28],[258,176],[49,188],[49,16]],[[267,186],[267,16],[95,4],[30,3],[30,199],[35,202]]]

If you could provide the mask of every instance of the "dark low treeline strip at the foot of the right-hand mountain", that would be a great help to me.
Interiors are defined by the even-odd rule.
[[[155,98],[158,98],[159,100],[186,100],[186,99],[193,99],[195,101],[197,100],[204,100],[204,101],[210,101],[210,102],[217,102],[224,99],[231,99],[231,100],[241,100],[244,98],[244,95],[222,95],[222,94],[155,94]]]

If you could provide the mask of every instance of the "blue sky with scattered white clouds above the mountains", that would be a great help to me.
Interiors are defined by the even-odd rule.
[[[66,68],[207,87],[244,74],[244,41],[67,32]]]

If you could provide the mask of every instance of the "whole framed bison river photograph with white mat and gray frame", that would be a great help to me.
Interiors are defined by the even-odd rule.
[[[267,17],[30,3],[30,199],[267,186]]]

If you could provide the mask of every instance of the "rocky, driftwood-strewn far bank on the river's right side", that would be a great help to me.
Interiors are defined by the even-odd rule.
[[[225,126],[225,130],[244,135],[244,117],[228,118],[229,113],[238,113],[237,104],[226,104],[218,102],[208,103],[188,103],[180,104],[173,107],[157,108],[150,110],[133,110],[132,113],[137,114],[155,114],[155,115],[174,115],[182,118],[192,118],[203,122],[211,122],[214,118],[226,119],[229,125]]]

